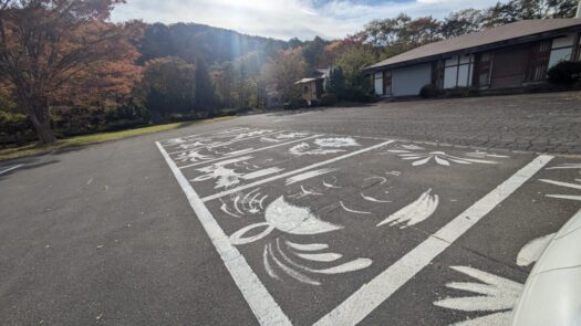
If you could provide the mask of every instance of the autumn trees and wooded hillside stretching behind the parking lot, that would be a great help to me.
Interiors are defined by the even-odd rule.
[[[577,0],[510,0],[444,19],[401,13],[340,40],[250,36],[195,23],[112,23],[121,0],[0,1],[0,146],[292,101],[334,66],[340,99],[372,101],[361,69],[412,48],[522,19],[573,17]]]

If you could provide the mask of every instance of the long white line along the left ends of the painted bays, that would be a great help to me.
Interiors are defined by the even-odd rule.
[[[224,230],[218,225],[218,222],[216,222],[210,211],[206,208],[194,188],[191,188],[186,177],[179,171],[169,155],[167,155],[164,147],[158,141],[156,141],[156,145],[172,169],[172,172],[174,172],[181,190],[184,190],[189,206],[194,209],[214,246],[216,246],[216,251],[220,254],[226,269],[230,272],[236,285],[258,318],[258,322],[261,325],[292,325],[258,276],[252,272],[252,269],[250,269],[245,257],[230,243]]]

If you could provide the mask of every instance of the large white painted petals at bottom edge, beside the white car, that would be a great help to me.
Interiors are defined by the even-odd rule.
[[[450,269],[479,282],[452,282],[446,284],[446,287],[475,295],[448,297],[434,302],[434,305],[460,312],[490,313],[455,325],[510,325],[512,308],[525,285],[469,266],[452,266]]]

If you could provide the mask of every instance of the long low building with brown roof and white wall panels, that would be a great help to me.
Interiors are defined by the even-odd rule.
[[[365,69],[380,96],[499,90],[543,83],[560,61],[580,61],[581,19],[523,20],[429,43]]]

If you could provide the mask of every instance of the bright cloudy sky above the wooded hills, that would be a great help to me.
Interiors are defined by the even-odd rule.
[[[487,8],[496,0],[127,0],[115,8],[115,22],[195,22],[280,40],[315,35],[331,40],[353,34],[373,19],[444,18],[466,8]]]

